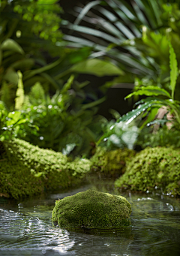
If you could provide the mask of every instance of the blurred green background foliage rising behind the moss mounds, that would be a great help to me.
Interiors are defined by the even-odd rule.
[[[72,157],[93,155],[96,144],[107,150],[175,146],[179,124],[166,130],[166,113],[154,132],[154,119],[164,102],[168,113],[179,112],[179,0],[92,1],[68,15],[59,4],[0,1],[0,139],[20,137]],[[177,63],[173,88],[169,41]],[[92,85],[80,74],[104,82]],[[133,88],[135,100],[151,98],[122,117],[110,110],[107,120],[97,113],[112,86]]]

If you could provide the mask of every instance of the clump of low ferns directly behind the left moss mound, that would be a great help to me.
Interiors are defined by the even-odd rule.
[[[57,91],[52,98],[45,94],[40,83],[32,86],[23,104],[23,116],[29,122],[21,128],[18,137],[65,155],[91,155],[95,140],[102,133],[97,127],[103,118],[94,117],[99,101],[92,104],[79,101],[75,105],[78,108],[72,108],[77,98],[75,93],[70,94],[73,83],[72,75],[61,92]]]

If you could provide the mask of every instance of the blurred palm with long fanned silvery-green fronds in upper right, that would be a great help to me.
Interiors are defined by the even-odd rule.
[[[133,83],[136,77],[162,84],[169,76],[166,34],[175,52],[179,51],[178,4],[166,0],[89,2],[75,9],[77,19],[74,24],[67,21],[70,32],[64,38],[71,47],[93,47],[90,58],[109,60],[124,71],[125,76],[115,77],[105,87]]]

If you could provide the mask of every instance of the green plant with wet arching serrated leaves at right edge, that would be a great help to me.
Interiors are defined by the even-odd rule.
[[[164,122],[167,122],[167,119],[154,120],[154,118],[157,115],[157,111],[160,109],[160,107],[166,107],[167,112],[171,113],[173,116],[172,120],[169,120],[169,122],[172,122],[172,125],[179,129],[180,102],[176,101],[174,97],[175,85],[178,77],[178,63],[176,60],[175,52],[170,42],[169,67],[171,71],[169,79],[170,83],[168,87],[171,89],[171,94],[169,94],[169,92],[167,92],[165,89],[160,88],[159,86],[144,86],[143,83],[138,84],[138,86],[135,87],[134,92],[130,93],[130,95],[127,95],[126,98],[130,98],[134,95],[145,95],[147,96],[147,98],[136,102],[136,109],[132,110],[130,113],[127,113],[126,115],[118,119],[117,124],[125,122],[126,125],[129,125],[130,122],[135,120],[137,116],[139,116],[141,129],[145,127],[145,125],[149,126],[160,122],[164,124]],[[104,138],[108,137],[110,138],[111,134],[112,131],[107,131],[107,133],[105,133],[104,136],[101,137],[101,140],[104,140]],[[101,140],[99,140],[99,142],[101,142]]]

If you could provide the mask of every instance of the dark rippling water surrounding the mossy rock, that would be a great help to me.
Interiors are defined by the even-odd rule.
[[[91,187],[91,186],[90,186]],[[180,200],[158,194],[123,194],[132,226],[93,235],[53,227],[55,200],[88,189],[33,200],[0,199],[0,255],[179,256]],[[100,191],[115,191],[98,186]]]

